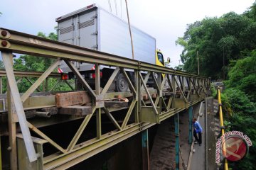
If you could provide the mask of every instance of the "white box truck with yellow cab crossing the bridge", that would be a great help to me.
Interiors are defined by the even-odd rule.
[[[58,22],[58,40],[60,42],[132,59],[127,22],[96,4],[60,16],[55,21]],[[156,39],[133,26],[131,26],[131,29],[134,43],[134,60],[164,66],[164,57],[160,51],[156,50]],[[75,62],[75,65],[82,76],[85,77],[87,83],[94,88],[94,65],[80,62]],[[73,77],[65,62],[61,64],[60,68],[63,69],[63,72],[69,72],[70,78]],[[102,71],[101,84],[105,86],[114,68],[101,66],[100,69]],[[129,77],[133,77],[132,72],[128,72],[128,74]],[[127,91],[128,84],[122,74],[117,75],[112,89]]]

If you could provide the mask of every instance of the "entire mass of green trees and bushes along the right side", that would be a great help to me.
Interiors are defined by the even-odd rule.
[[[256,1],[239,15],[225,13],[220,18],[204,18],[189,24],[183,38],[183,69],[196,73],[197,53],[201,75],[224,81],[221,94],[226,130],[238,130],[252,140],[247,157],[229,162],[231,169],[255,169],[256,160]],[[211,86],[213,96],[217,91]]]

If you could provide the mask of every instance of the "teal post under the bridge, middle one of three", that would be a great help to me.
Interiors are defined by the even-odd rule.
[[[175,126],[175,162],[176,170],[179,169],[179,125],[178,125],[178,113],[174,115]]]

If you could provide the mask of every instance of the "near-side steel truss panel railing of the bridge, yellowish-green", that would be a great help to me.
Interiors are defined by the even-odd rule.
[[[23,147],[29,161],[36,161],[36,165],[34,164],[33,166],[40,167],[39,169],[67,169],[198,103],[205,98],[210,87],[209,79],[196,74],[159,67],[154,64],[131,60],[105,52],[97,52],[62,42],[55,42],[4,28],[0,29],[0,50],[9,83],[8,120],[9,140],[10,147],[12,148],[11,166],[17,164],[16,139],[18,139],[18,147]],[[16,84],[12,64],[13,52],[55,59],[55,62],[50,65],[46,72],[43,72],[38,77],[22,96],[20,96]],[[75,135],[70,139],[68,147],[59,145],[58,142],[48,137],[48,134],[30,123],[26,119],[23,106],[31,98],[31,94],[62,61],[68,65],[86,90],[82,91],[82,95],[87,101],[85,107],[90,107],[82,115],[82,123],[75,132]],[[95,89],[92,89],[84,77],[82,77],[79,69],[73,64],[74,61],[95,64]],[[100,66],[112,67],[114,70],[105,86],[100,84]],[[134,76],[130,76],[130,72]],[[124,79],[128,82],[129,91],[110,92],[110,86],[119,73],[122,73]],[[154,89],[147,86],[149,79],[152,79],[154,82]],[[119,108],[122,109],[124,118],[114,116],[114,111],[118,109],[114,109],[111,106],[107,107],[106,104],[107,101],[115,101],[118,98],[128,99],[128,102],[125,101],[127,106]],[[59,111],[63,108],[67,109],[64,106],[60,106]],[[102,125],[102,116],[107,116],[110,119],[114,129],[105,132],[105,129],[103,129],[104,125]],[[81,142],[80,138],[92,119],[96,120],[97,125],[95,137]],[[18,123],[21,129],[22,135],[16,134],[16,123]],[[31,132],[40,136],[41,142],[31,137]],[[20,142],[23,142],[23,145]],[[44,143],[50,143],[57,151],[43,156]],[[38,147],[34,147],[34,145]],[[41,154],[38,156],[36,153]],[[26,162],[26,164],[31,163]]]

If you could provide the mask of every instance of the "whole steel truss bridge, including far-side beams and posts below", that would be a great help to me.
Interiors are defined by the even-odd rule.
[[[174,116],[175,120],[176,159],[178,159],[178,113],[204,100],[210,89],[210,79],[206,77],[5,28],[0,29],[0,50],[5,68],[0,71],[1,92],[4,79],[7,77],[6,94],[1,94],[0,135],[2,140],[0,141],[9,146],[8,153],[10,154],[9,162],[0,162],[0,166],[8,164],[11,169],[26,169],[28,166],[31,169],[68,169],[137,133],[142,132],[144,142],[146,142],[147,129],[171,116]],[[55,60],[45,72],[16,71],[13,68],[14,53]],[[54,87],[62,80],[59,78],[59,74],[53,71],[62,61],[68,64],[80,84],[86,89],[85,91],[75,91],[73,84],[68,81],[65,83],[70,86],[71,91],[54,91]],[[95,64],[95,90],[87,84],[73,61]],[[100,65],[114,68],[112,76],[104,87],[100,85]],[[129,77],[127,70],[132,70],[134,77]],[[129,91],[108,91],[119,73],[122,73],[128,82]],[[31,77],[36,80],[32,81]],[[150,77],[154,81],[154,89],[146,86]],[[49,78],[58,79],[52,89],[48,89]],[[23,94],[18,91],[18,83],[22,79],[31,83],[29,89]],[[43,88],[40,89],[40,86]],[[39,92],[35,92],[36,90]],[[70,116],[57,113],[58,118],[54,116],[46,120],[38,120],[36,117],[28,118],[28,111],[32,110],[38,113],[38,109],[56,108],[58,105],[55,101],[57,95],[65,96],[72,93],[78,93],[85,100],[86,106],[80,106],[81,111],[87,109],[83,115],[72,115],[74,108],[70,107],[68,110],[70,113],[66,113]],[[113,98],[128,98],[129,101],[124,101],[127,106],[123,107],[107,105],[107,102],[115,102]],[[58,106],[57,111],[63,109],[66,111],[67,107]],[[63,112],[65,112],[64,110]],[[122,120],[117,120],[114,116],[114,111],[118,110],[122,110],[122,113],[125,112]],[[114,125],[114,130],[105,132],[102,125],[103,115],[109,118]],[[97,125],[95,137],[78,142],[92,118],[96,120]],[[41,127],[76,119],[82,120],[82,123],[68,142],[68,147],[59,145],[49,137],[47,132],[40,130]],[[31,134],[36,134],[36,137]],[[58,133],[55,135],[58,136]],[[6,139],[4,137],[7,140],[4,140]],[[54,147],[55,152],[44,156],[43,145],[45,144]],[[146,160],[149,157],[146,145],[143,150],[144,169],[148,168]],[[6,152],[2,149],[0,153],[2,159],[9,157],[4,153]]]

